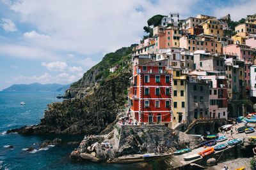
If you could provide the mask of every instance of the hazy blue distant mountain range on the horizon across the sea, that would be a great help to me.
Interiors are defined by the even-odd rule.
[[[7,89],[3,89],[3,92],[64,92],[70,87],[69,85],[60,85],[56,83],[52,84],[40,84],[40,83],[32,83],[32,84],[18,84],[12,85]]]

